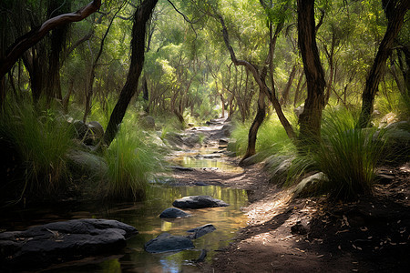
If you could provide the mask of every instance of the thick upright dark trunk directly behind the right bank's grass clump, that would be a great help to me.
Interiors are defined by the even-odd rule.
[[[317,143],[321,137],[324,72],[316,45],[314,0],[298,0],[298,42],[308,96],[299,116],[301,145]]]

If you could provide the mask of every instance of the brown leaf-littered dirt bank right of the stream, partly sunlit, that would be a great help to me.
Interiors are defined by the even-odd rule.
[[[222,135],[207,136],[217,141]],[[203,272],[409,272],[410,164],[379,172],[385,179],[373,195],[345,203],[292,198],[292,189],[269,182],[261,164],[241,172],[175,171],[174,177],[248,192],[248,226],[211,263],[199,265]]]

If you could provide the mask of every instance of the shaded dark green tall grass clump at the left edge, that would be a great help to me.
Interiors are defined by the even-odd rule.
[[[74,146],[73,128],[52,109],[31,102],[9,102],[0,117],[0,136],[14,147],[21,160],[21,197],[53,198],[68,182],[67,151]],[[21,182],[21,181],[20,181]]]

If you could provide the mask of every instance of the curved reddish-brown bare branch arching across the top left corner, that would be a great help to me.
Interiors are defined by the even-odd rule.
[[[36,45],[48,32],[55,29],[60,25],[66,25],[72,22],[78,22],[88,15],[95,13],[101,6],[100,0],[94,0],[90,4],[77,10],[77,12],[58,15],[53,18],[46,20],[43,25],[33,29],[26,35],[23,35],[15,40],[15,43],[11,45],[6,53],[5,57],[1,59],[0,63],[0,80],[3,82],[5,74],[10,71],[10,69],[15,65],[15,62],[20,56],[22,56],[26,50],[33,45]],[[5,100],[5,88],[4,85],[0,85],[0,106],[3,106]]]

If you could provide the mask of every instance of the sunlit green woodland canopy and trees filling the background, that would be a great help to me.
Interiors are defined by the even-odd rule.
[[[99,7],[97,1],[51,2],[2,2],[3,100],[5,94],[34,101],[44,95],[84,116],[94,105],[108,110],[128,86],[133,20],[146,1],[110,1],[82,22],[56,28],[10,66],[10,46],[36,25],[75,6]],[[408,1],[159,1],[139,53],[146,56],[142,80],[129,87],[138,96],[127,101],[181,123],[215,109],[245,122],[267,107],[290,137],[296,129],[300,138],[318,138],[327,105],[362,107],[364,126],[374,104],[386,112],[396,97],[408,95],[408,35],[400,33],[408,27],[407,10]],[[238,61],[246,66],[235,66]],[[375,96],[380,82],[383,94]],[[299,125],[291,126],[292,107],[303,102]]]

